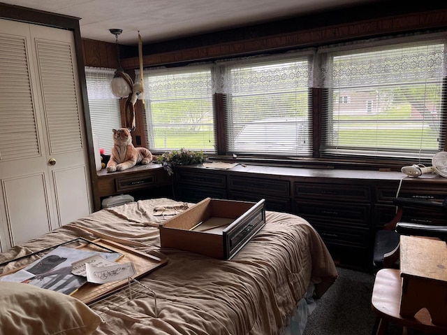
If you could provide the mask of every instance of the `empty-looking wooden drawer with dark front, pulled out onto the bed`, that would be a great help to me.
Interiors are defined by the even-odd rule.
[[[217,224],[208,227],[210,222]],[[230,259],[264,225],[264,200],[252,203],[207,198],[160,227],[161,248]]]

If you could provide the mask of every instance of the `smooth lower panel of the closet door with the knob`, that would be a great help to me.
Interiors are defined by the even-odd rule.
[[[53,170],[59,225],[67,224],[90,214],[89,186],[85,166]],[[80,183],[79,180],[85,180]]]

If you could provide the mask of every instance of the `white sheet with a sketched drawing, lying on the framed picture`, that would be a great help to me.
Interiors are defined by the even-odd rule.
[[[110,266],[96,267],[91,264],[85,264],[87,269],[87,281],[90,283],[104,284],[117,280],[127,279],[135,275],[135,268],[132,262]]]

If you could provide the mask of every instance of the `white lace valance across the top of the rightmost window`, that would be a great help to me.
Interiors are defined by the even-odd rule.
[[[446,76],[446,32],[374,38],[318,48],[313,87],[409,83]],[[422,46],[421,46],[422,45]]]

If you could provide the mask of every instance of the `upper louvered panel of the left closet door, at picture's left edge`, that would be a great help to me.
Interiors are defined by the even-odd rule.
[[[14,23],[20,27],[15,35],[0,33],[0,162],[41,155],[29,75],[27,29]],[[3,29],[5,24],[0,20],[0,31],[10,31]]]

